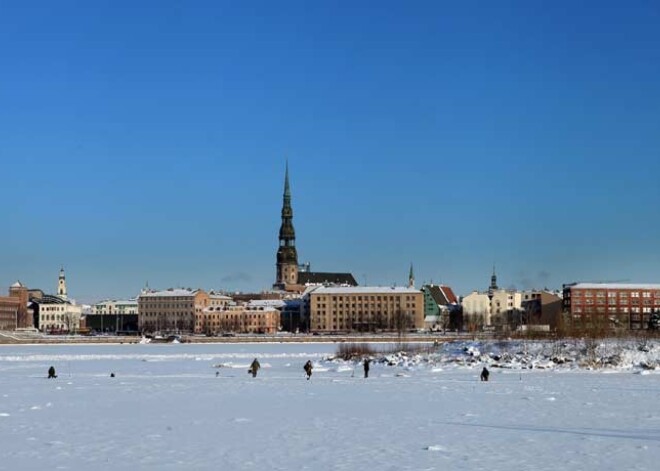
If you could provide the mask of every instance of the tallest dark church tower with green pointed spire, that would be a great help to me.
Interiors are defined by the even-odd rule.
[[[282,201],[282,224],[280,226],[280,246],[277,249],[277,273],[275,288],[286,289],[298,284],[298,252],[296,251],[296,231],[293,229],[293,209],[291,208],[291,187],[289,185],[289,163],[284,174],[284,196]]]

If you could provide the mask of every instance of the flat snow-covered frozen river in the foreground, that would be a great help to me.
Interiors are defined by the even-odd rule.
[[[660,469],[657,370],[491,366],[482,383],[480,361],[417,361],[364,379],[334,352],[0,346],[0,469]]]

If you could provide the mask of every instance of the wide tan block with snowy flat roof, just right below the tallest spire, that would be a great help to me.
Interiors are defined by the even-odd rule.
[[[309,293],[313,332],[424,328],[424,295],[411,288],[320,287]]]

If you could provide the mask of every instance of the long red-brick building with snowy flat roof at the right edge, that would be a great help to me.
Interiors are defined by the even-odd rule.
[[[660,312],[660,284],[564,285],[564,312],[581,326],[647,329],[656,311]]]

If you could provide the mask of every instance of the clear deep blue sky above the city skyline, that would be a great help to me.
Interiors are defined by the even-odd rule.
[[[2,2],[0,283],[660,282],[657,2]]]

